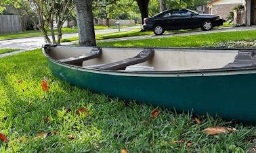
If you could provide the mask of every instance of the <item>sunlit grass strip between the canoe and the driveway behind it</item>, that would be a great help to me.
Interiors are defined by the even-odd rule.
[[[97,42],[97,45],[110,47],[215,47],[215,44],[220,42],[234,40],[256,40],[256,31],[218,32],[169,38]]]

